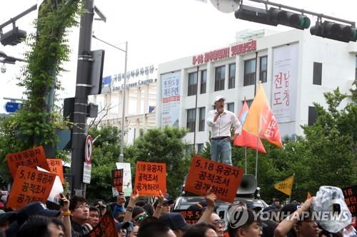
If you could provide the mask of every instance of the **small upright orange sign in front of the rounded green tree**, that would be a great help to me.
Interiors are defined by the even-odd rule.
[[[166,164],[154,162],[137,162],[135,189],[140,196],[166,195]]]

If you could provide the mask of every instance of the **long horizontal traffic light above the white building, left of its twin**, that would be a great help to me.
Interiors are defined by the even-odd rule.
[[[310,27],[311,23],[307,16],[273,7],[266,11],[265,9],[241,5],[235,12],[235,16],[236,19],[253,21],[271,26],[277,26],[280,24],[301,30]]]

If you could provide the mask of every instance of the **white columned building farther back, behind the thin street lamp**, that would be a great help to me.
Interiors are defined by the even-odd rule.
[[[125,93],[125,136],[126,144],[133,144],[140,132],[156,127],[156,76],[154,65],[128,70]],[[99,127],[113,125],[121,130],[124,100],[124,73],[103,78],[100,95],[93,95],[91,102],[101,111],[96,118]]]

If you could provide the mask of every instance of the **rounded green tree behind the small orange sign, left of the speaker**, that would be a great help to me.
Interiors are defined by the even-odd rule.
[[[167,191],[172,197],[178,196],[191,161],[185,154],[187,144],[183,137],[186,133],[186,128],[155,128],[136,139],[124,156],[130,159],[133,176],[138,161],[166,163]]]

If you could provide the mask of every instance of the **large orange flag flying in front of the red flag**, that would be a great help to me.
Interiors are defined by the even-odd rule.
[[[264,93],[261,83],[258,84],[258,91],[249,109],[243,130],[266,139],[277,147],[283,147],[278,123],[273,111],[271,111],[268,100],[266,100],[266,93]]]

